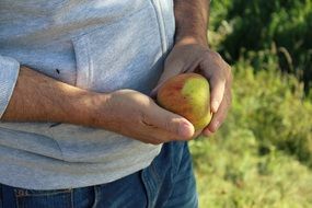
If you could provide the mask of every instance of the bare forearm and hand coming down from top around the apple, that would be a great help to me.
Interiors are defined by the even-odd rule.
[[[166,58],[163,74],[152,96],[164,81],[174,76],[184,72],[203,74],[210,84],[210,111],[213,117],[201,132],[211,136],[224,122],[231,105],[231,67],[208,46],[208,0],[175,0],[174,5],[175,45]]]

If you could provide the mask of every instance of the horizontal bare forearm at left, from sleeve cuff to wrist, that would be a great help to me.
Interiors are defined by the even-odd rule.
[[[92,126],[96,93],[21,68],[2,122],[53,122]]]

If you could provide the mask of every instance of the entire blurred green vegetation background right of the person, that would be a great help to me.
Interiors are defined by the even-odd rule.
[[[312,1],[211,1],[233,67],[221,129],[192,141],[200,208],[312,207]]]

